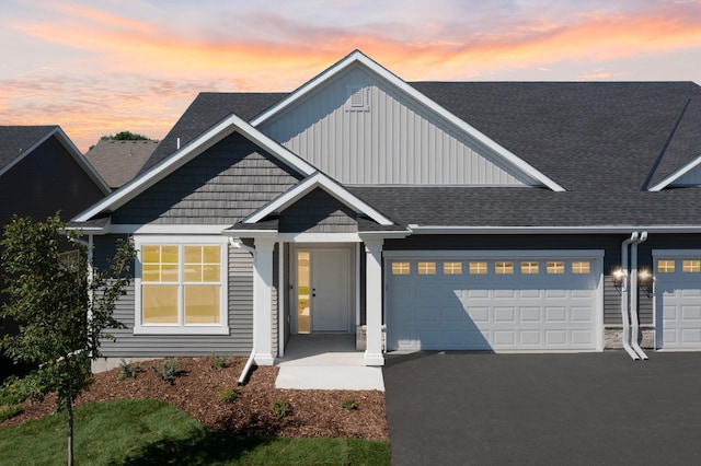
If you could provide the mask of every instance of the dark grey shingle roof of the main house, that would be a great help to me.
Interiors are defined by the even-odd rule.
[[[409,84],[567,193],[496,187],[349,188],[399,223],[701,225],[701,189],[641,190],[645,179],[659,180],[701,154],[701,88],[692,82]],[[185,144],[230,113],[251,119],[285,95],[203,93],[149,163],[173,152],[177,137]]]

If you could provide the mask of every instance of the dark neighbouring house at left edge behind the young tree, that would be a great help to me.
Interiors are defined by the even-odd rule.
[[[110,188],[58,126],[0,126],[0,228],[12,215],[71,219]],[[4,272],[0,268],[0,277]],[[0,278],[0,289],[4,288]],[[4,295],[0,294],[0,305]],[[2,333],[16,331],[2,322]]]

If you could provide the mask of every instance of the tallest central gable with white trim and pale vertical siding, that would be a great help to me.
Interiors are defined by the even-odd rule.
[[[360,104],[359,112],[348,113],[353,109],[346,101],[358,97],[358,91],[360,102],[364,95],[388,101],[383,112],[377,116],[366,114],[375,106],[372,103],[367,108]],[[315,107],[304,108],[312,101],[310,106]],[[380,106],[377,105],[378,110]],[[330,110],[336,115],[335,120],[333,117],[320,119]],[[292,126],[289,126],[290,121]],[[527,184],[564,190],[358,50],[253,118],[251,124],[347,184]],[[300,138],[299,133],[307,129],[310,129],[308,138]],[[392,135],[388,136],[389,132]],[[347,138],[347,141],[340,140],[334,145],[331,141],[334,137]],[[458,153],[444,155],[430,147],[432,141],[441,147],[459,141],[464,147],[458,148]],[[359,145],[356,152],[365,158],[359,162],[363,166],[344,167],[344,163],[358,158],[354,153],[338,153],[337,148],[345,149],[354,142]],[[395,153],[388,155],[387,147]],[[308,148],[315,152],[308,152]],[[405,162],[400,159],[405,158],[407,151],[416,155],[410,166],[400,167]],[[436,154],[440,154],[438,161]],[[372,166],[372,163],[378,165]],[[456,166],[451,167],[451,163]],[[439,172],[435,172],[436,164],[440,166]],[[455,177],[457,164],[462,164],[460,173],[464,176]]]

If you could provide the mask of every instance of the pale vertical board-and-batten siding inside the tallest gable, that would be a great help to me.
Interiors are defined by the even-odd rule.
[[[367,106],[349,109],[361,89]],[[536,185],[361,66],[260,128],[347,185]]]

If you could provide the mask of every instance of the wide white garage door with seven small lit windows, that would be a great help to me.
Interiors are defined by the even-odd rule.
[[[389,350],[600,348],[602,253],[406,254],[386,254]]]

